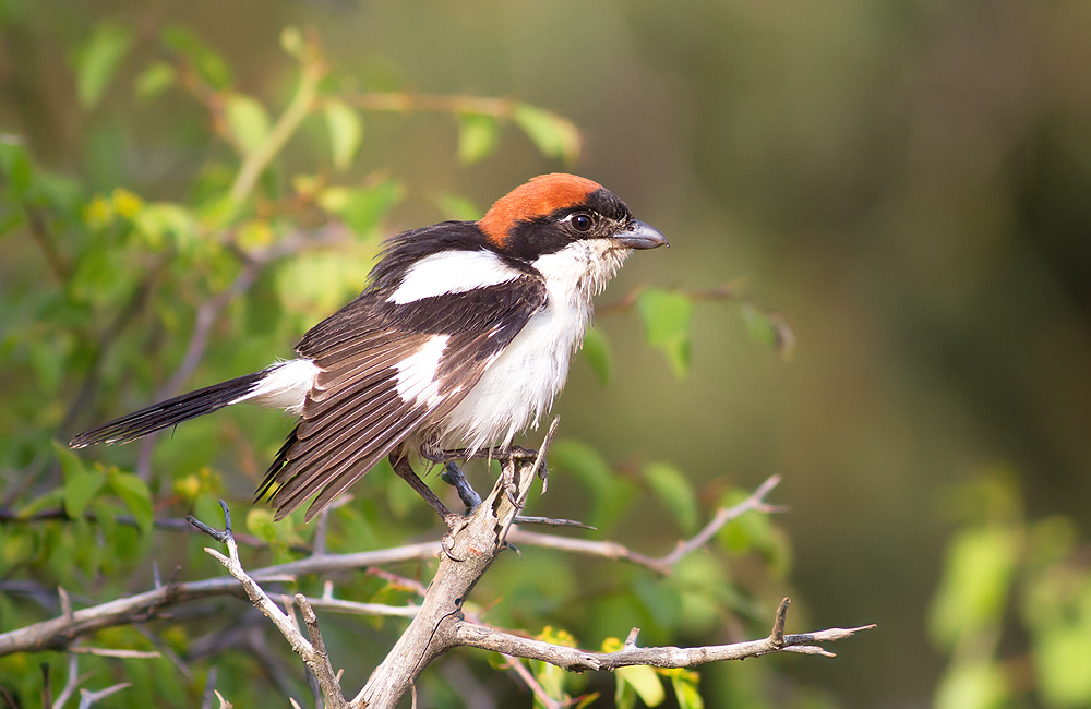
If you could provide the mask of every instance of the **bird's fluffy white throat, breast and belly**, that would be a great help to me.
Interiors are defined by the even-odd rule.
[[[508,446],[517,433],[538,424],[564,386],[572,353],[584,341],[591,298],[630,253],[612,239],[588,239],[533,262],[546,277],[546,304],[451,412],[442,434],[445,447]]]

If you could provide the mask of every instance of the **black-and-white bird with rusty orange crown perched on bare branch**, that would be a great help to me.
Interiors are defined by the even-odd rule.
[[[634,250],[669,247],[616,195],[550,173],[477,221],[388,239],[363,291],[303,335],[297,357],[74,436],[129,443],[235,404],[297,417],[257,490],[275,519],[311,520],[383,458],[447,519],[411,455],[503,454],[564,386],[600,293]]]

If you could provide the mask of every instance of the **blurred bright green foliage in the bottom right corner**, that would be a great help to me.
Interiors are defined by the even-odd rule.
[[[1028,519],[1012,471],[946,495],[960,528],[933,599],[933,641],[950,656],[936,709],[1091,706],[1091,570],[1071,520]],[[1030,646],[1011,652],[1008,636]]]

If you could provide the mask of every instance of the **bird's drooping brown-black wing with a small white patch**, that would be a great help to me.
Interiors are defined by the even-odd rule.
[[[407,436],[454,409],[544,304],[546,284],[527,274],[400,305],[386,296],[365,291],[296,348],[321,371],[257,492],[272,492],[277,519],[319,493],[310,520]],[[413,383],[403,374],[411,358],[427,362],[422,352],[441,349],[434,371],[421,368],[431,378]]]

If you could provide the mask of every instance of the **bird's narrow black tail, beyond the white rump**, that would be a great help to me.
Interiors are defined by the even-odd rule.
[[[84,431],[73,437],[69,445],[73,448],[83,448],[96,443],[130,443],[149,433],[205,413],[218,411],[229,404],[243,400],[248,398],[248,395],[257,390],[268,374],[268,370],[262,370],[176,396],[135,413],[123,416],[116,421],[104,423],[91,431]]]

